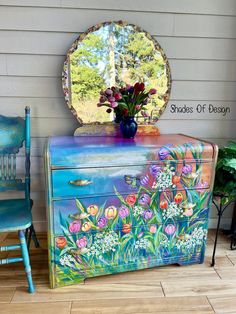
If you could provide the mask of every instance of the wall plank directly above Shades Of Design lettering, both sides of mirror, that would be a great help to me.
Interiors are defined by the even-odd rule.
[[[0,95],[49,98],[63,92],[60,78],[0,76]],[[235,82],[173,81],[171,99],[234,101]]]

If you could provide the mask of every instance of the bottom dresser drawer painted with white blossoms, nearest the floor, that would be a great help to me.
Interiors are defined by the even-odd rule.
[[[71,278],[80,282],[117,271],[181,264],[189,258],[199,262],[206,241],[207,221],[196,220],[190,224],[179,221],[174,232],[168,226],[160,225],[155,230],[139,226],[130,233],[106,230],[56,237],[53,254],[56,285],[69,283]]]

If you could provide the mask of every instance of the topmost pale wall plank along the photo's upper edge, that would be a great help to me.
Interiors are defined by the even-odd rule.
[[[0,0],[7,6],[90,8],[123,11],[236,15],[235,0]]]

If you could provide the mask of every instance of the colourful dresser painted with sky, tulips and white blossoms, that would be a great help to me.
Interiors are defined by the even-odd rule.
[[[202,263],[216,155],[184,135],[49,138],[51,287]]]

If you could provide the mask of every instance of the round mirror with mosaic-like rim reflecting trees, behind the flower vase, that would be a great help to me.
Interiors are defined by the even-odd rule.
[[[67,53],[62,82],[67,105],[80,124],[112,122],[114,113],[97,107],[100,91],[136,82],[157,90],[147,105],[148,117],[136,117],[139,124],[153,124],[171,89],[170,67],[160,45],[147,32],[122,21],[93,26],[79,36]]]

